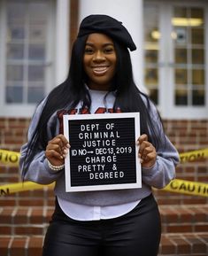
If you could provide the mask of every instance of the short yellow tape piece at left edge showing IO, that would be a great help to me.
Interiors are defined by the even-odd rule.
[[[0,150],[0,163],[9,165],[9,166],[18,167],[19,156],[20,156],[19,152]]]

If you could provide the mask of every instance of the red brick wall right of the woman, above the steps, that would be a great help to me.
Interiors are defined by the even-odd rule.
[[[182,152],[208,148],[208,120],[164,120],[166,134],[177,150]],[[195,182],[208,182],[208,159],[181,163],[176,178]],[[207,198],[176,193],[156,192],[160,204],[205,204]]]

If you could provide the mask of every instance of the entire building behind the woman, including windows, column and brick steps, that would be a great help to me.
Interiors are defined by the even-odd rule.
[[[129,30],[135,82],[158,106],[178,151],[208,148],[207,0],[0,0],[0,186],[20,182],[1,150],[19,151],[27,141],[35,106],[65,80],[78,25],[92,13]],[[181,162],[176,178],[207,183],[207,156]],[[207,197],[153,191],[163,231],[158,255],[207,255]],[[53,206],[48,187],[0,190],[0,254],[41,255]]]

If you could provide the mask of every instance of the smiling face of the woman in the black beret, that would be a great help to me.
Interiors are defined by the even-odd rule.
[[[85,45],[83,66],[90,89],[108,90],[116,70],[112,39],[104,34],[90,34]]]

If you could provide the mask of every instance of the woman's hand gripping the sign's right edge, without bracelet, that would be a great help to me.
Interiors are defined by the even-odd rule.
[[[153,167],[157,159],[157,152],[155,147],[148,141],[148,136],[145,134],[140,136],[137,144],[139,145],[138,157],[141,160],[142,167]]]

